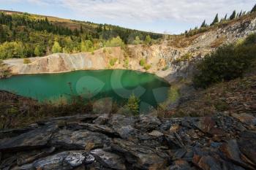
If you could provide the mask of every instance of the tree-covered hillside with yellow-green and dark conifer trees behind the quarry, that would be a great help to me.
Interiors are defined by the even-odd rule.
[[[0,13],[0,59],[93,52],[100,47],[151,44],[160,37],[162,34],[107,24],[53,20],[21,12]]]

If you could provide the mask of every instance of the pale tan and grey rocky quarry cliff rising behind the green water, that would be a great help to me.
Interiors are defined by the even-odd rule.
[[[12,69],[13,74],[37,74],[70,72],[83,69],[134,69],[151,72],[167,81],[173,82],[182,77],[189,77],[194,63],[219,45],[243,39],[256,31],[256,16],[236,20],[222,26],[211,28],[205,33],[192,37],[177,36],[181,41],[188,41],[185,47],[176,47],[177,37],[166,39],[161,45],[129,45],[127,49],[110,47],[94,53],[53,54],[42,58],[30,58],[31,63],[23,64],[23,59],[4,61]],[[140,60],[145,59],[151,67],[140,66]],[[113,66],[110,61],[115,60]]]

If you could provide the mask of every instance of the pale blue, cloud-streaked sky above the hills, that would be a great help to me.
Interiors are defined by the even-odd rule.
[[[178,34],[211,23],[233,9],[249,11],[255,0],[0,0],[0,9],[86,20]]]

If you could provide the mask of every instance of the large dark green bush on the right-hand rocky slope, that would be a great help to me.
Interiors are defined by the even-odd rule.
[[[206,55],[197,64],[199,71],[193,77],[196,87],[207,88],[216,82],[242,77],[256,58],[256,36],[252,34],[238,45],[224,45]]]

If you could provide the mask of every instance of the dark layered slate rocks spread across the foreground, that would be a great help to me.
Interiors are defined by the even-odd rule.
[[[243,120],[59,117],[0,131],[0,169],[256,169],[256,128]]]

